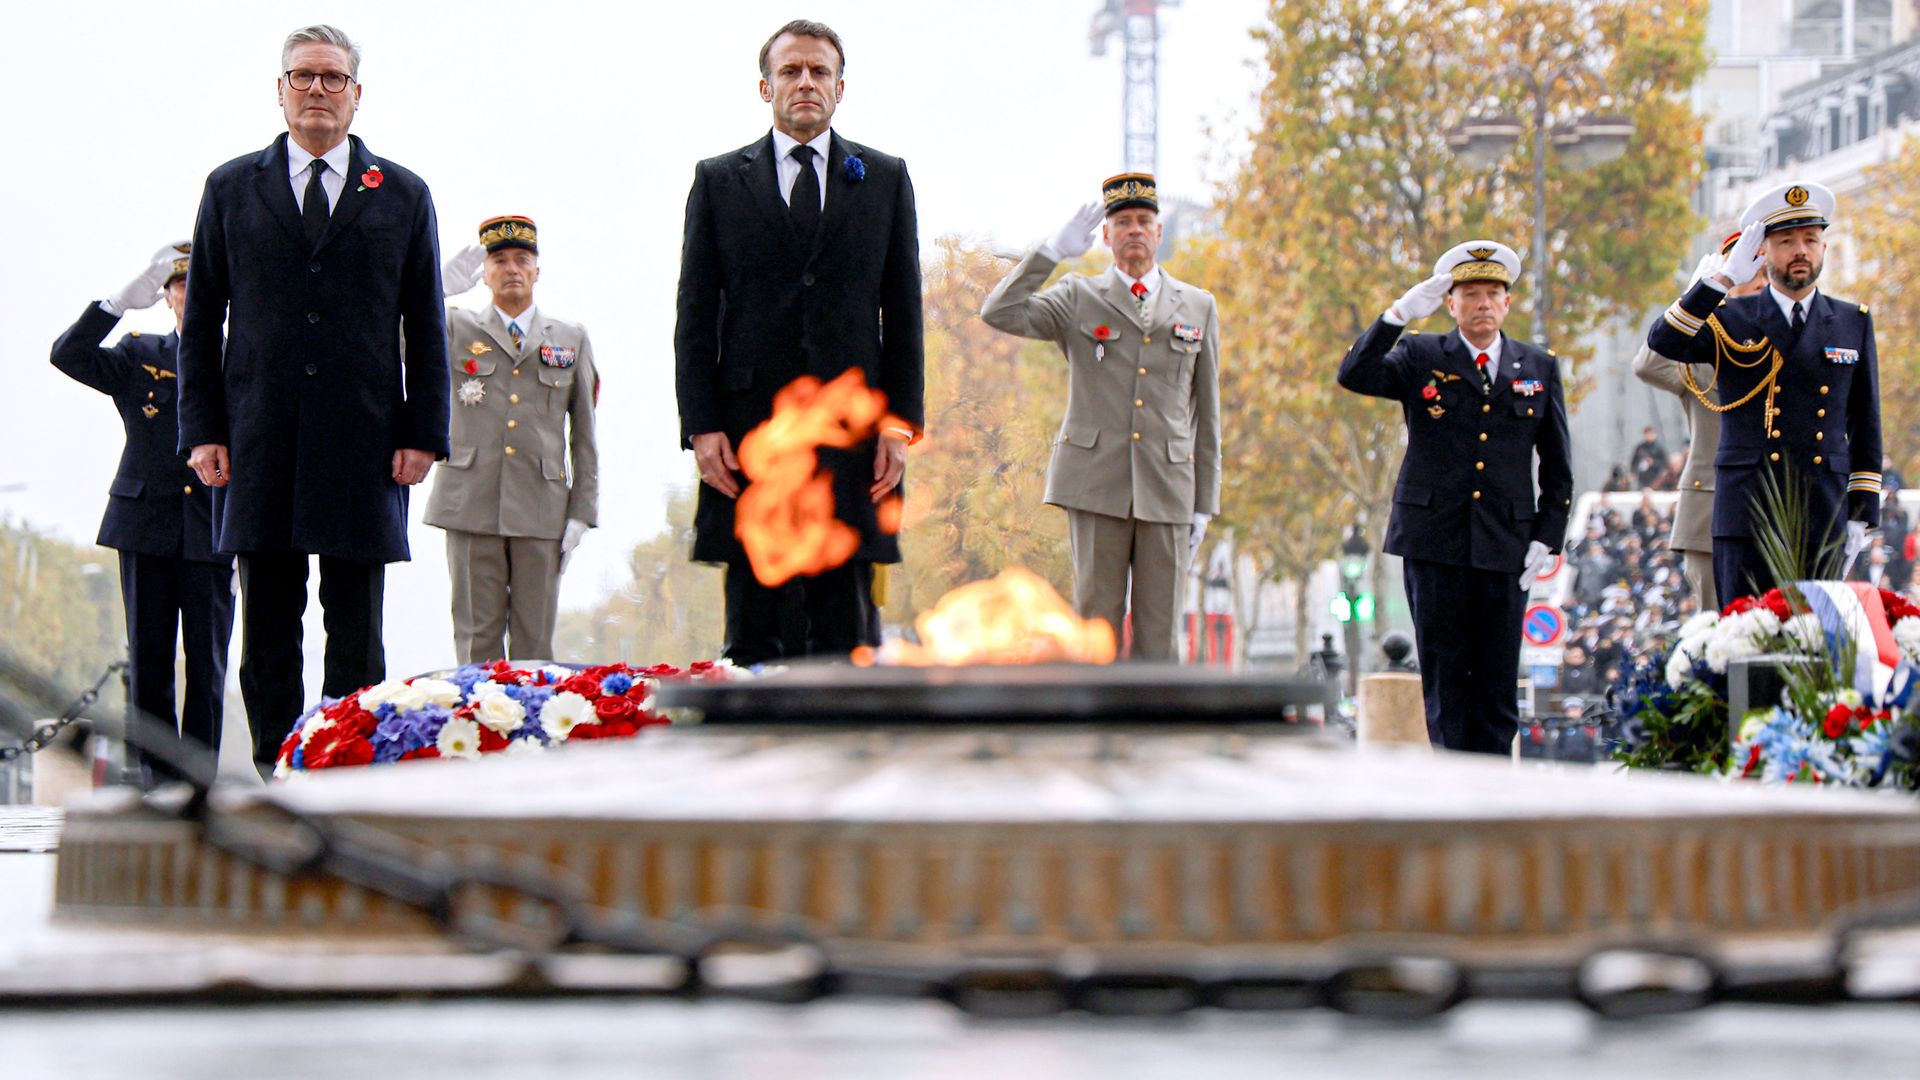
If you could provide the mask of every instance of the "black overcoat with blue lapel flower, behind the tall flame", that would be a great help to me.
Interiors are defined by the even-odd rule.
[[[862,161],[862,179],[849,171],[849,158]],[[918,430],[925,423],[920,327],[920,234],[904,161],[835,133],[826,209],[810,240],[797,234],[780,198],[772,135],[693,169],[674,329],[682,444],[724,430],[739,448],[774,413],[781,386],[851,367]],[[868,496],[874,444],[822,450],[820,463],[833,475],[835,513],[860,530],[854,557],[900,561],[899,540],[879,530]],[[707,484],[693,557],[745,559],[733,500]]]

